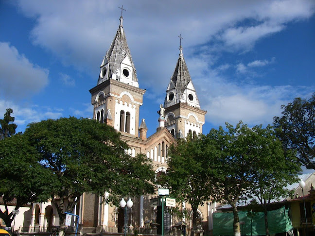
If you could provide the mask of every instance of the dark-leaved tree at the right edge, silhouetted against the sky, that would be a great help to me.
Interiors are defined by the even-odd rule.
[[[315,169],[315,93],[309,99],[295,98],[281,106],[282,117],[274,117],[277,136],[285,150],[296,150],[298,161]]]

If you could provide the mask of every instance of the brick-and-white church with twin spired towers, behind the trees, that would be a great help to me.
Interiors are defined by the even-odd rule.
[[[145,120],[140,118],[140,106],[143,104],[145,89],[140,88],[136,67],[132,60],[127,39],[123,29],[123,16],[100,66],[97,85],[89,90],[93,105],[93,118],[101,123],[113,126],[121,133],[121,138],[128,146],[127,152],[134,157],[144,153],[150,158],[156,175],[167,169],[168,149],[176,139],[185,138],[188,134],[202,133],[206,111],[199,104],[192,78],[184,60],[180,43],[179,56],[174,62],[175,70],[169,84],[165,84],[164,104],[157,107],[157,131],[147,137]],[[133,206],[128,208],[126,221],[129,229],[141,229],[148,223],[156,226],[161,234],[161,206],[152,204],[156,195],[132,198]],[[178,218],[165,211],[164,234],[168,235],[176,224],[185,224],[188,234],[192,228],[192,209],[188,203],[177,202],[182,210],[188,211],[188,218]],[[37,210],[36,210],[37,209]],[[212,229],[212,213],[215,205],[205,202],[198,208],[198,218],[203,222],[203,229]],[[102,198],[85,193],[74,211],[80,216],[83,233],[123,232],[124,210],[119,206],[102,203]],[[36,217],[36,215],[38,216]],[[58,214],[50,202],[34,203],[31,227],[36,224],[42,228],[58,225]],[[72,220],[73,221],[73,220]],[[74,223],[74,222],[73,222]]]

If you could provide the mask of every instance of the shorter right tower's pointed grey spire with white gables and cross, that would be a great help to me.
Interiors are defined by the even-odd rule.
[[[182,37],[181,35],[178,37],[180,38],[179,57],[166,91],[167,94],[164,101],[164,108],[183,102],[200,109],[199,100],[184,59],[183,48],[181,45]]]

